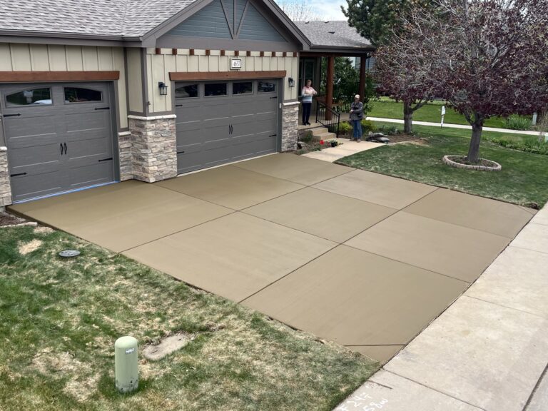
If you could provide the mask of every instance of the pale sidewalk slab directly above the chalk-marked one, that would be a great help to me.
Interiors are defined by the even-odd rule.
[[[547,320],[463,296],[385,369],[487,411],[522,411],[548,362]]]

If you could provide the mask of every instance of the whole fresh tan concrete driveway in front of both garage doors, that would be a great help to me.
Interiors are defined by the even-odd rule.
[[[534,214],[293,154],[11,210],[380,362]]]

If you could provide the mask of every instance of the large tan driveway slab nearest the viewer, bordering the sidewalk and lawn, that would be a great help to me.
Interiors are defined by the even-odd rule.
[[[341,345],[404,345],[466,286],[340,245],[243,304]]]

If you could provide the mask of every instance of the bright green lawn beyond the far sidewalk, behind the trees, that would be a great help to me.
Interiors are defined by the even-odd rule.
[[[440,123],[442,117],[442,101],[427,103],[413,113],[414,121],[431,121]],[[381,98],[380,101],[373,101],[371,111],[367,112],[367,116],[380,118],[400,118],[403,119],[403,104],[396,103],[390,98]],[[452,124],[468,124],[466,118],[462,114],[457,113],[452,108],[446,107],[445,123]],[[506,119],[495,117],[485,121],[486,127],[507,128]]]

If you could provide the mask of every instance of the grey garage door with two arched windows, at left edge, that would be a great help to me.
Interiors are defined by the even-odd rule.
[[[108,83],[0,86],[14,201],[114,179]]]

